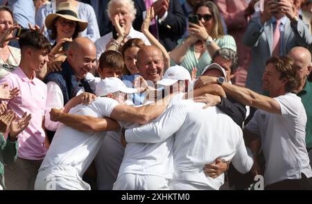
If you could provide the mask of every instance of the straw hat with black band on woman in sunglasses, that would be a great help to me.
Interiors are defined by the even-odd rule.
[[[79,32],[84,31],[85,28],[88,26],[88,22],[84,22],[83,20],[78,19],[77,10],[75,6],[73,6],[69,2],[62,2],[56,8],[55,13],[51,13],[46,17],[45,24],[46,28],[52,29],[53,28],[53,20],[56,17],[63,17],[64,19],[68,19],[74,22],[77,22],[79,25]]]

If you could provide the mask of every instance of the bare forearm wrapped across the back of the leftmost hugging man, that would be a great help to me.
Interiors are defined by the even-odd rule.
[[[120,127],[116,121],[109,118],[96,118],[63,112],[58,115],[58,121],[76,130],[92,133],[116,130]]]

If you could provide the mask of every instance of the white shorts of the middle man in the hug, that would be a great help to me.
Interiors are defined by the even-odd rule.
[[[113,190],[168,190],[169,179],[161,176],[123,173],[114,183]]]

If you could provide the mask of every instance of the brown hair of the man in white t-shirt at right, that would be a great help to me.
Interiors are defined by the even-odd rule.
[[[297,72],[293,59],[288,56],[271,57],[266,60],[266,65],[272,63],[281,74],[279,79],[286,78],[288,82],[285,85],[286,92],[293,92],[299,86],[299,80],[296,77]]]

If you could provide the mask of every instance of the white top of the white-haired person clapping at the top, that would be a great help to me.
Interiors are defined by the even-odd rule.
[[[139,38],[143,40],[146,45],[150,45],[150,42],[148,41],[146,36],[139,31],[135,31],[135,28],[133,28],[132,26],[126,38],[128,40],[132,38]],[[112,32],[107,33],[103,37],[98,38],[96,42],[94,42],[94,44],[96,45],[96,59],[97,60],[101,57],[101,54],[106,50],[106,44],[110,42],[111,39],[112,39]]]

